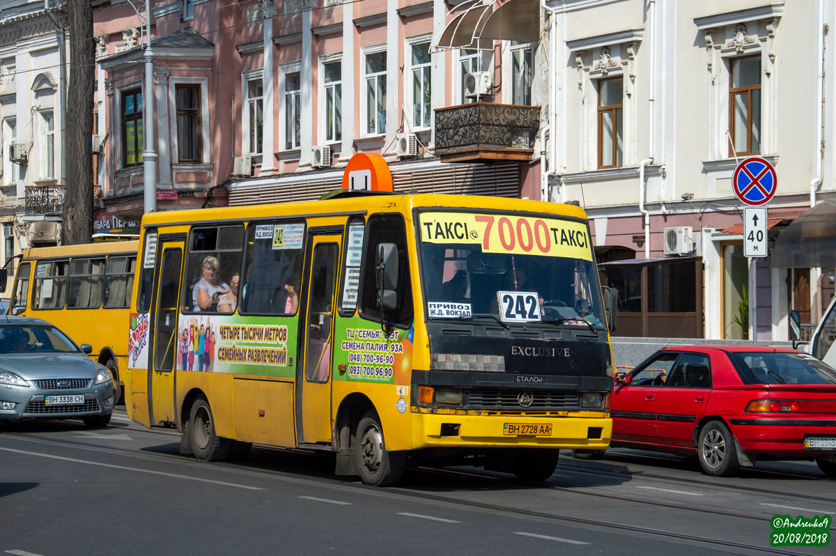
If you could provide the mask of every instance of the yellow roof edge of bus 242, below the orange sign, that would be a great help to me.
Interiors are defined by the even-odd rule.
[[[538,212],[556,217],[586,219],[581,207],[528,199],[512,199],[496,196],[394,194],[364,195],[321,201],[297,201],[271,205],[244,205],[190,209],[186,211],[150,212],[142,217],[142,226],[158,226],[168,223],[203,221],[247,220],[269,217],[313,217],[339,213],[410,212],[417,207],[445,207],[462,209],[493,209],[508,212]]]

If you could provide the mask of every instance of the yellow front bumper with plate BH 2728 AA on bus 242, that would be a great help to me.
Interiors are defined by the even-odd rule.
[[[613,421],[604,413],[581,416],[412,414],[412,446],[551,447],[605,450]]]

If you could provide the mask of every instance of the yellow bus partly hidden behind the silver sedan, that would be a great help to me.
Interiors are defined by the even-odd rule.
[[[125,324],[134,288],[137,240],[24,250],[10,314],[55,324],[110,369],[120,399],[128,339]]]

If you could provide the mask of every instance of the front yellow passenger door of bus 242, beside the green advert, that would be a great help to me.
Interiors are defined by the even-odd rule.
[[[311,236],[305,263],[304,344],[296,371],[296,426],[300,442],[331,441],[331,361],[334,291],[341,235]]]

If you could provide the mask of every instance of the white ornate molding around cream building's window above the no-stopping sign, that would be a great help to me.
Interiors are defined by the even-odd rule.
[[[729,81],[731,60],[741,56],[761,58],[760,155],[777,155],[776,79],[777,28],[783,2],[768,3],[726,13],[695,18],[706,45],[706,70],[710,82],[708,160],[729,156]]]

